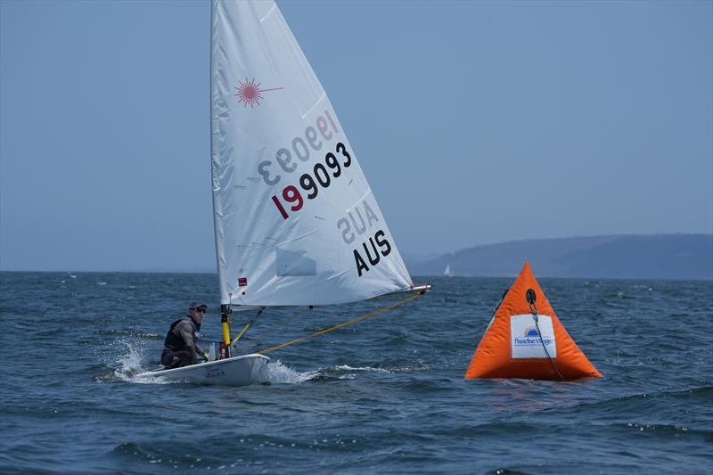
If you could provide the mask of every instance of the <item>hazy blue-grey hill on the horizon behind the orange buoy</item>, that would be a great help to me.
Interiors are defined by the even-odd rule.
[[[713,279],[713,234],[537,239],[488,244],[423,262],[414,275],[513,276],[528,260],[538,277]]]

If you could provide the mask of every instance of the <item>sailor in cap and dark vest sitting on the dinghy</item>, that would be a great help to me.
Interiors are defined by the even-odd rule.
[[[188,314],[171,323],[163,343],[161,364],[167,368],[180,368],[188,364],[205,360],[206,355],[198,346],[201,334],[201,323],[208,311],[208,305],[203,302],[191,302]]]

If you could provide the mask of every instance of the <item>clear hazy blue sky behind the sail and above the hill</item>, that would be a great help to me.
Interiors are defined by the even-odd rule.
[[[713,233],[713,2],[277,4],[406,258]],[[209,2],[0,21],[0,269],[214,269]]]

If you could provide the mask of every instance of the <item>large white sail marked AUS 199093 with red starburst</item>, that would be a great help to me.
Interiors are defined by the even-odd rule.
[[[413,285],[274,2],[214,0],[210,103],[222,304],[334,304]]]

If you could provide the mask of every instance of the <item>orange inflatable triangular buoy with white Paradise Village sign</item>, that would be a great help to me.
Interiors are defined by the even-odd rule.
[[[601,378],[602,374],[554,315],[526,262],[475,349],[465,379],[586,377]]]

